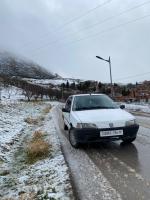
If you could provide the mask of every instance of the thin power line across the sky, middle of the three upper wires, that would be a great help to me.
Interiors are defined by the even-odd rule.
[[[131,12],[131,11],[137,9],[137,8],[143,7],[143,6],[145,6],[146,4],[149,4],[149,3],[150,3],[150,1],[146,1],[146,2],[143,2],[143,3],[141,3],[141,4],[136,5],[136,6],[134,6],[134,7],[128,8],[128,9],[126,9],[126,10],[124,10],[124,11],[118,13],[117,15],[112,15],[111,17],[108,17],[108,18],[106,18],[106,19],[104,19],[104,20],[102,20],[102,21],[100,21],[100,22],[97,22],[97,23],[92,24],[92,25],[90,25],[90,26],[87,26],[87,27],[85,27],[85,28],[79,29],[78,32],[79,32],[79,31],[82,31],[82,30],[86,30],[86,29],[91,29],[92,27],[94,27],[94,26],[96,26],[96,25],[100,25],[100,24],[103,24],[103,23],[105,23],[105,22],[107,22],[107,21],[113,20],[113,19],[116,18],[116,17],[119,17],[119,16],[121,16],[121,15],[124,15],[124,14],[126,14],[126,13],[128,13],[128,12]],[[78,32],[75,32],[75,33],[72,33],[72,34],[67,34],[67,35],[65,35],[64,37],[67,38],[68,36],[74,36],[74,35],[76,35]],[[55,44],[55,43],[57,43],[57,42],[59,42],[59,41],[64,40],[64,37],[61,37],[60,39],[54,40],[54,41],[52,41],[52,42],[49,42],[49,43],[48,43],[48,46],[49,46],[49,45],[53,45],[53,44]],[[41,47],[39,47],[39,48],[44,48],[44,47],[45,47],[45,45],[43,45],[43,46],[41,46]]]

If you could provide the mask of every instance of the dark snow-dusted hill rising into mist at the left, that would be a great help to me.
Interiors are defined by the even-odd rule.
[[[6,52],[0,52],[0,74],[35,79],[52,79],[57,77],[56,74],[48,72],[36,63]]]

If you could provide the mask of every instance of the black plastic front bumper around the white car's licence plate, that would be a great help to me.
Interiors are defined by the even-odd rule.
[[[128,127],[117,127],[117,128],[103,128],[103,129],[95,129],[95,128],[74,128],[74,134],[76,140],[79,143],[86,142],[102,142],[102,141],[113,141],[113,140],[121,140],[121,139],[130,139],[135,138],[139,129],[139,125],[135,124]],[[110,130],[123,130],[123,135],[117,136],[106,136],[101,137],[101,131],[110,131]]]

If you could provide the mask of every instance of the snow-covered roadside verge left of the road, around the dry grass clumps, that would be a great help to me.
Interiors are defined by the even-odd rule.
[[[55,102],[54,105],[57,103]],[[0,199],[74,199],[48,103],[0,104]],[[41,116],[43,118],[41,118]],[[27,124],[27,117],[40,119]],[[35,130],[46,133],[52,145],[48,158],[35,164],[26,162],[26,144]]]

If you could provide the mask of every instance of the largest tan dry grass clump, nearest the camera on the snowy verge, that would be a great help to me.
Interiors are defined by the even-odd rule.
[[[51,145],[44,141],[45,134],[35,131],[31,142],[27,145],[27,162],[32,164],[37,160],[46,158],[51,150]]]

